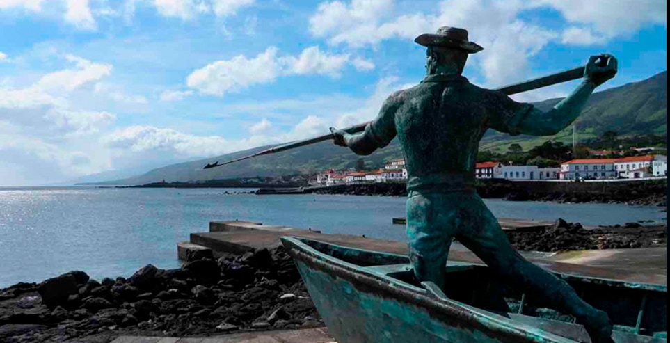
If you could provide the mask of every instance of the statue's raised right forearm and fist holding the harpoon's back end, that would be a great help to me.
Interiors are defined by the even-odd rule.
[[[596,64],[598,58],[603,63]],[[516,125],[520,134],[532,136],[551,136],[571,125],[582,113],[584,105],[596,87],[616,74],[617,61],[611,55],[591,56],[584,72],[584,79],[577,89],[549,111],[533,107]]]

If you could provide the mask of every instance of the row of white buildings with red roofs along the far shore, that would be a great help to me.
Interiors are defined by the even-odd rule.
[[[644,151],[644,150],[643,150]],[[594,157],[607,152],[591,151]],[[667,157],[662,154],[644,154],[620,158],[572,159],[560,167],[516,166],[513,163],[486,161],[477,163],[474,175],[478,179],[504,179],[511,181],[605,181],[648,180],[667,177]],[[406,182],[407,168],[404,159],[392,159],[377,170],[333,170],[314,175],[314,186],[338,184]]]

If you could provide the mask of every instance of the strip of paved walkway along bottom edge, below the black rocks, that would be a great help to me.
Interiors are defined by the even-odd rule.
[[[239,333],[212,337],[120,336],[111,343],[337,343],[325,328],[264,333]]]

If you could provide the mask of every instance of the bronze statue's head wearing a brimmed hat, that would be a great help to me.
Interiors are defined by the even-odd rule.
[[[468,31],[456,27],[442,26],[436,34],[424,33],[415,40],[426,47],[426,69],[428,74],[436,74],[438,68],[446,67],[463,72],[468,54],[484,50],[477,43],[468,40]]]

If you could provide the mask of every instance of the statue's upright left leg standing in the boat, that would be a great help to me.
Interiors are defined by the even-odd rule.
[[[407,236],[417,279],[445,287],[447,257],[458,228],[456,207],[443,194],[412,193],[407,198]]]

